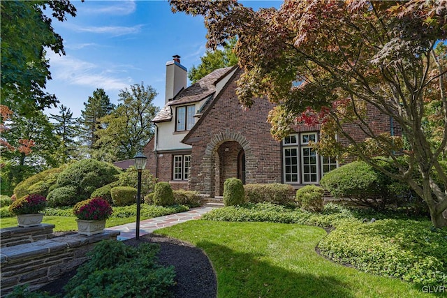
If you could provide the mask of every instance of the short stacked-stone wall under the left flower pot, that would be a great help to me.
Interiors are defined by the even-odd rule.
[[[51,239],[54,225],[42,223],[37,227],[21,228],[3,228],[0,230],[0,247],[27,244],[45,239]]]

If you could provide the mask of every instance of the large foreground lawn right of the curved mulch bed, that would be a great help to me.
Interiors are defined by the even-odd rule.
[[[337,265],[315,252],[326,232],[283,223],[189,221],[157,230],[202,248],[218,297],[434,297],[396,278]]]

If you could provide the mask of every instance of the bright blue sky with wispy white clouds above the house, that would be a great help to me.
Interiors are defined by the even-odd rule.
[[[205,54],[203,17],[172,13],[168,1],[72,1],[76,17],[53,21],[64,39],[65,56],[47,52],[52,80],[47,91],[80,117],[83,103],[96,88],[112,103],[119,90],[144,82],[158,92],[154,105],[164,104],[166,61],[181,56],[186,68]],[[255,10],[281,1],[242,1]],[[57,114],[59,108],[46,113]]]

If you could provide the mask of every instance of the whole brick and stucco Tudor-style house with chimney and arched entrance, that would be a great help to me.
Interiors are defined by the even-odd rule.
[[[335,158],[318,156],[309,147],[318,141],[319,126],[294,126],[295,133],[278,142],[267,122],[272,103],[258,99],[243,110],[235,93],[237,67],[214,70],[186,87],[186,68],[179,58],[166,63],[165,106],[152,120],[156,133],[144,149],[146,167],[159,181],[214,197],[222,195],[223,182],[230,177],[244,184],[299,188],[318,184],[338,166]],[[378,131],[397,131],[374,109],[368,109],[368,117]]]

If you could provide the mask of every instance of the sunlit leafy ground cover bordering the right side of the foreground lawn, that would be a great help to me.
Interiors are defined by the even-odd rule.
[[[321,214],[262,203],[215,209],[203,219],[336,228],[318,245],[328,258],[420,286],[447,285],[447,230],[432,228],[427,218],[409,219],[405,214],[348,209],[331,203]]]

